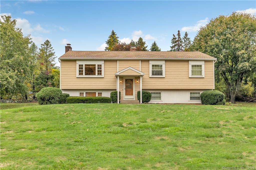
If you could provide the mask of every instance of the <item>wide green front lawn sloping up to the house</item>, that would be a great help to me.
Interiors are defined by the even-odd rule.
[[[255,166],[255,136],[256,107],[33,105],[1,110],[1,169]]]

